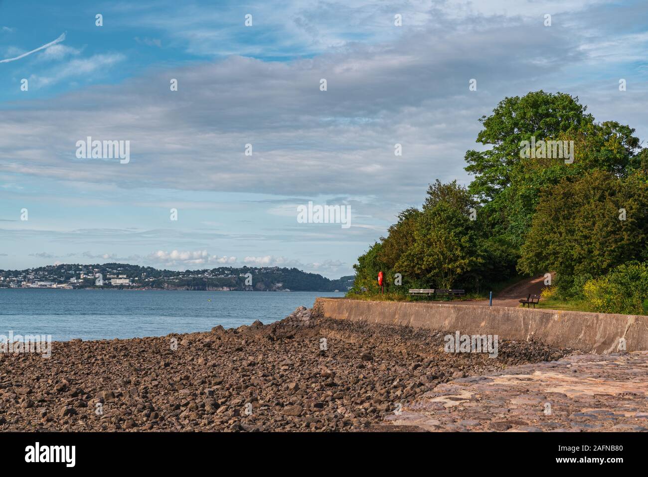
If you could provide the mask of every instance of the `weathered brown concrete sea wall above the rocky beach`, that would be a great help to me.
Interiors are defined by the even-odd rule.
[[[588,353],[615,353],[620,338],[625,338],[627,351],[648,350],[648,316],[347,298],[318,298],[313,311],[338,320],[497,334],[510,340],[537,338]]]

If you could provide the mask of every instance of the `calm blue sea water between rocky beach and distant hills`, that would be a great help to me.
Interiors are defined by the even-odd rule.
[[[51,334],[54,341],[165,336],[281,320],[328,292],[0,290],[0,334]]]

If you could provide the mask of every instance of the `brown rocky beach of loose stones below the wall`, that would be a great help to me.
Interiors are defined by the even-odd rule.
[[[0,355],[0,430],[358,431],[455,379],[575,351],[502,340],[450,354],[443,331],[284,320]]]

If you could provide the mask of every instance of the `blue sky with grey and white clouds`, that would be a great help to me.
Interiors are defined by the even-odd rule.
[[[504,97],[570,93],[647,139],[647,46],[631,0],[0,0],[0,269],[353,274],[429,183],[470,182]]]

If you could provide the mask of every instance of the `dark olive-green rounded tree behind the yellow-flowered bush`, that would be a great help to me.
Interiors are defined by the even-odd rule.
[[[614,266],[643,259],[648,237],[648,185],[637,174],[621,179],[594,170],[564,178],[540,196],[518,268],[557,272],[563,297]]]

